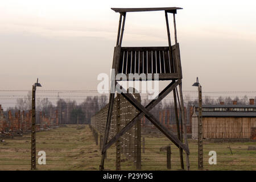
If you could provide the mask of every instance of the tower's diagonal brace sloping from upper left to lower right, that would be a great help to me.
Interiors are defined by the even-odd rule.
[[[117,87],[117,91],[120,92],[121,90],[119,90],[119,88]],[[174,134],[172,134],[170,131],[168,131],[168,129],[165,126],[163,126],[162,123],[160,123],[158,121],[158,119],[156,119],[154,117],[154,115],[150,113],[150,111],[148,111],[137,100],[135,100],[135,98],[133,97],[132,94],[130,94],[130,93],[121,93],[121,94],[136,109],[138,109],[139,111],[143,112],[145,114],[146,118],[148,120],[150,120],[160,131],[162,131],[162,133],[164,135],[166,135],[167,138],[169,138],[172,142],[174,142],[174,144],[177,147],[181,147],[187,154],[189,154],[189,149],[188,149],[187,145],[183,144]]]

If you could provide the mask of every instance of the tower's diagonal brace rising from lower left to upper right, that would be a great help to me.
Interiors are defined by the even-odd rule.
[[[164,97],[166,97],[172,90],[174,90],[178,84],[180,84],[180,80],[172,81],[169,85],[166,86],[166,88],[162,90],[162,92],[159,93],[158,98],[152,100],[146,106],[146,109],[151,110],[153,107],[155,107],[160,101],[163,100]],[[106,144],[103,148],[103,151],[108,150],[108,148],[111,147],[112,144],[115,143],[119,137],[121,137],[123,134],[126,133],[126,131],[128,131],[131,127],[133,127],[133,125],[135,125],[137,119],[141,119],[143,116],[144,114],[142,112],[137,114],[136,117],[134,117],[129,123],[127,123],[127,125],[123,127],[123,129],[118,134],[116,134],[112,139],[109,140],[108,144]]]

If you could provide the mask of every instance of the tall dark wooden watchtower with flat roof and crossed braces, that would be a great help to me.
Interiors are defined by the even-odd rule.
[[[181,63],[180,63],[180,51],[179,51],[179,43],[177,43],[176,36],[176,22],[175,22],[175,14],[177,10],[181,9],[180,7],[156,7],[156,8],[112,8],[115,12],[120,14],[119,18],[119,26],[118,26],[118,34],[117,34],[117,44],[114,48],[114,56],[113,56],[113,66],[115,69],[115,76],[118,73],[123,73],[128,77],[129,73],[158,73],[159,80],[170,80],[170,84],[166,86],[159,93],[158,97],[155,100],[152,100],[146,107],[142,106],[131,93],[122,93],[122,91],[118,88],[122,88],[118,85],[118,80],[112,80],[112,90],[117,88],[117,92],[121,93],[123,97],[127,99],[136,109],[139,110],[139,113],[129,122],[119,133],[117,133],[112,139],[108,139],[109,130],[110,130],[110,122],[112,117],[112,110],[114,104],[114,92],[110,92],[109,97],[109,109],[108,109],[108,117],[106,121],[105,135],[104,135],[104,143],[102,147],[102,159],[100,164],[100,170],[104,170],[104,159],[106,155],[106,150],[112,144],[114,144],[119,137],[121,137],[124,133],[126,133],[131,127],[140,121],[140,119],[145,115],[145,117],[151,121],[167,138],[169,138],[178,148],[180,152],[180,163],[181,168],[184,169],[183,163],[183,150],[186,154],[186,162],[187,169],[189,170],[189,148],[187,143],[187,133],[185,127],[185,118],[184,118],[184,106],[183,106],[183,95],[182,95],[182,72],[181,72]],[[167,26],[167,35],[168,35],[168,46],[167,47],[122,47],[122,38],[123,38],[123,30],[125,27],[125,18],[126,13],[128,12],[139,12],[139,11],[164,11],[166,18],[166,26]],[[174,35],[175,35],[175,44],[171,44],[171,36],[170,36],[170,28],[168,22],[168,13],[173,14],[174,18]],[[152,74],[152,80],[154,80]],[[177,87],[179,86],[179,94],[177,91]],[[150,110],[156,106],[164,97],[166,97],[171,91],[174,94],[174,106],[175,106],[175,114],[176,114],[176,123],[177,123],[177,137],[172,134],[165,126],[162,125],[150,113]],[[180,99],[179,99],[180,97]],[[179,109],[181,113],[181,123],[183,123],[183,136],[182,132],[180,132],[179,127],[179,117],[178,117],[178,107],[177,103],[179,103]],[[183,121],[183,122],[182,122]],[[183,143],[184,139],[184,143]]]

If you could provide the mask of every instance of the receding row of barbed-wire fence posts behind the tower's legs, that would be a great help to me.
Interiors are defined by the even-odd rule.
[[[134,94],[137,101],[141,102],[141,96],[138,93]],[[107,104],[91,119],[91,127],[93,135],[100,134],[100,149],[102,149],[103,136],[105,133],[106,119],[108,115]],[[135,109],[121,94],[117,94],[114,99],[114,107],[112,119],[110,124],[109,138],[114,137],[118,131],[127,125],[137,115],[139,111]],[[96,138],[95,138],[96,139]],[[97,139],[96,139],[97,140]],[[116,169],[121,169],[121,154],[126,159],[134,163],[137,169],[141,169],[141,121],[138,120],[137,124],[131,127],[122,137],[115,143],[116,148]]]

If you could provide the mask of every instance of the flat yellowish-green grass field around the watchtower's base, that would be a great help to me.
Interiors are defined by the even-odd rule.
[[[77,130],[76,125],[36,133],[36,151],[46,152],[46,165],[37,164],[38,170],[98,170],[101,152],[96,146],[88,125]],[[167,170],[166,152],[159,148],[171,144],[171,170],[180,169],[179,151],[166,137],[145,137],[142,153],[142,170]],[[189,160],[192,170],[197,170],[197,142],[189,139]],[[256,170],[256,151],[247,150],[255,142],[204,141],[204,170]],[[30,134],[5,139],[0,143],[0,170],[30,169]],[[231,148],[231,151],[230,151]],[[208,163],[209,151],[217,152],[217,164]],[[37,156],[39,158],[39,156]],[[135,170],[134,163],[122,156],[122,170]],[[185,163],[185,155],[184,155]],[[115,169],[115,146],[110,147],[105,169]]]

